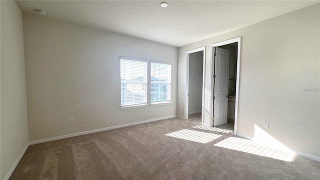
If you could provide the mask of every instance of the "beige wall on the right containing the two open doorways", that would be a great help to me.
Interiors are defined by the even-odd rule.
[[[320,4],[178,48],[177,115],[184,116],[184,53],[241,36],[238,133],[261,127],[287,147],[320,156]],[[208,67],[205,68],[208,88]],[[269,128],[263,128],[263,121]]]

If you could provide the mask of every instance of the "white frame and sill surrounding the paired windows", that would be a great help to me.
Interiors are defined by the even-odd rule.
[[[139,104],[130,104],[130,105],[121,105],[121,59],[123,60],[134,60],[134,61],[143,61],[147,62],[147,81],[146,81],[146,103],[139,103]],[[163,100],[163,101],[155,101],[151,102],[151,62],[153,63],[159,63],[159,64],[168,64],[170,65],[170,99],[169,100]],[[127,108],[137,108],[137,107],[147,107],[147,106],[154,106],[154,105],[165,105],[165,104],[171,104],[171,97],[172,97],[172,86],[171,86],[171,79],[172,79],[172,64],[170,62],[164,62],[164,61],[157,61],[157,60],[148,60],[148,59],[140,59],[140,58],[133,58],[133,57],[125,57],[120,56],[119,59],[119,70],[120,70],[120,109],[127,109]]]

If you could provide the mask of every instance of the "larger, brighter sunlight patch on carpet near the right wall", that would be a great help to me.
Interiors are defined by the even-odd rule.
[[[291,162],[296,156],[295,153],[288,150],[279,149],[273,146],[265,145],[263,143],[237,137],[226,138],[214,145],[288,162]]]

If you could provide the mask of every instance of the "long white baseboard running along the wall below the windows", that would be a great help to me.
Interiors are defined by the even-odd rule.
[[[111,126],[111,127],[104,127],[104,128],[99,128],[99,129],[87,130],[87,131],[83,131],[83,132],[76,132],[76,133],[60,135],[60,136],[55,136],[55,137],[49,137],[49,138],[44,138],[44,139],[39,139],[39,140],[32,140],[32,141],[29,142],[29,144],[32,145],[32,144],[37,144],[37,143],[42,143],[42,142],[48,142],[48,141],[52,141],[52,140],[58,140],[58,139],[63,139],[63,138],[68,138],[68,137],[74,137],[74,136],[78,136],[78,135],[84,135],[84,134],[89,134],[89,133],[94,133],[94,132],[100,132],[100,131],[104,131],[104,130],[110,130],[110,129],[120,128],[120,127],[126,127],[126,126],[130,126],[130,125],[136,125],[136,124],[141,124],[141,123],[146,123],[146,122],[152,122],[152,121],[162,120],[162,119],[167,119],[167,118],[172,118],[172,117],[176,117],[176,115],[153,118],[153,119],[142,120],[142,121],[138,121],[138,122],[126,123],[126,124],[121,124],[121,125],[114,125],[114,126]]]

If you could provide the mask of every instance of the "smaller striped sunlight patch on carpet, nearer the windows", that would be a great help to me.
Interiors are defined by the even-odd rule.
[[[194,142],[208,143],[222,135],[217,135],[214,133],[201,132],[196,130],[182,129],[175,132],[164,134],[170,137],[176,137],[184,140],[191,140]]]

